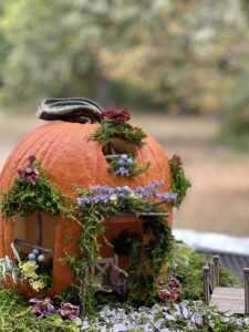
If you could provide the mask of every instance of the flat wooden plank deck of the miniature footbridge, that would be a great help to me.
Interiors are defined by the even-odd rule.
[[[211,294],[210,305],[217,305],[222,312],[243,313],[245,289],[217,287]]]

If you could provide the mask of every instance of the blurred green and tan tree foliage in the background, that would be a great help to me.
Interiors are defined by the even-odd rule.
[[[87,95],[249,123],[248,18],[247,0],[2,1],[0,101]]]

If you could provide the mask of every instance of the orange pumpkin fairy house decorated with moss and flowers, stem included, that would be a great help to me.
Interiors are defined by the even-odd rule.
[[[139,270],[131,284],[155,279],[169,257],[176,199],[164,148],[127,123],[125,108],[46,100],[38,116],[50,123],[18,144],[0,176],[3,283],[53,297],[72,282],[82,290],[105,263],[126,270],[128,289],[131,269]]]

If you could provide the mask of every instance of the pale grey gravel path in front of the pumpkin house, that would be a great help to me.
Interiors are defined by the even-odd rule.
[[[204,319],[205,318],[205,319]],[[222,323],[236,323],[237,330],[249,329],[249,318],[234,317],[230,313],[219,313],[205,307],[203,301],[183,301],[172,307],[155,304],[152,308],[111,308],[105,305],[94,319],[85,319],[79,326],[80,331],[100,332],[180,332],[183,329],[198,331],[205,326],[204,321],[216,330],[217,319]],[[207,326],[206,323],[206,326]],[[224,330],[225,331],[225,330]]]

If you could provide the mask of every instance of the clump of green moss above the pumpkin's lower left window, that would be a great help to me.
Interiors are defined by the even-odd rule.
[[[8,217],[28,217],[34,211],[44,211],[52,216],[70,214],[65,204],[70,198],[52,185],[41,166],[37,166],[40,176],[35,186],[15,177],[10,190],[1,193],[0,208]]]

